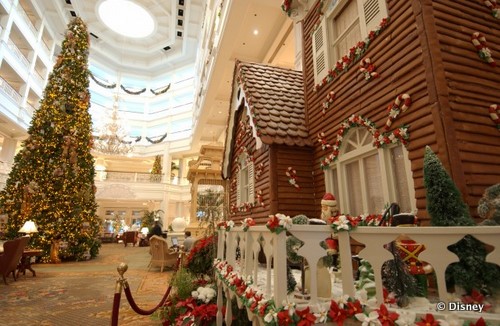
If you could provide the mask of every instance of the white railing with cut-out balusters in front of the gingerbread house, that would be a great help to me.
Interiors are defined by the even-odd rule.
[[[294,302],[298,307],[315,307],[325,298],[318,296],[317,266],[319,260],[327,255],[325,249],[320,246],[320,242],[332,235],[332,228],[327,225],[293,225],[289,232],[296,238],[304,242],[297,254],[304,257],[310,269],[309,275],[309,296],[300,299],[294,295],[287,294],[287,251],[286,234],[271,233],[266,226],[252,226],[248,231],[243,231],[241,227],[234,227],[230,231],[219,230],[217,261],[232,266],[234,271],[241,275],[242,279],[251,278],[252,284],[258,284],[264,298],[272,299],[279,307],[283,302]],[[376,299],[378,305],[384,302],[382,286],[382,265],[392,260],[392,254],[385,248],[391,241],[396,240],[400,235],[406,235],[412,240],[425,245],[425,250],[421,252],[419,258],[432,265],[437,283],[437,296],[429,298],[430,306],[408,308],[417,314],[424,316],[432,313],[434,316],[445,318],[450,311],[441,311],[437,307],[438,302],[448,303],[455,301],[452,294],[449,294],[445,284],[445,271],[448,265],[458,261],[458,257],[450,252],[447,247],[461,240],[465,235],[472,235],[481,242],[494,248],[498,245],[500,226],[488,227],[358,227],[350,232],[337,233],[339,241],[339,256],[341,261],[341,291],[344,295],[355,297],[355,277],[353,274],[353,253],[351,251],[351,239],[365,245],[359,252],[359,258],[369,261],[375,274]],[[261,252],[262,248],[262,252]],[[238,249],[238,250],[237,250]],[[237,255],[237,252],[240,254]],[[259,263],[259,252],[265,255],[267,262],[265,266]],[[494,248],[486,257],[489,263],[500,266],[500,250]],[[271,263],[272,262],[272,263]],[[346,263],[347,262],[347,263]],[[223,264],[222,264],[223,265]],[[217,268],[216,268],[217,269]],[[338,275],[337,275],[338,276]],[[337,280],[338,281],[338,280]],[[331,282],[334,283],[333,277]],[[332,287],[334,284],[332,284]],[[322,283],[324,284],[324,283]],[[222,292],[226,298],[238,299],[241,307],[242,300],[231,287],[220,278],[218,285],[218,320],[217,325],[222,325]],[[306,282],[307,285],[307,282]],[[301,285],[303,286],[303,285]],[[497,294],[498,295],[498,294]],[[334,298],[328,298],[330,302]],[[496,298],[500,302],[499,298]],[[498,305],[498,303],[497,303]],[[226,324],[230,325],[232,313],[230,304],[226,305]],[[437,309],[436,309],[437,308]],[[395,309],[394,307],[389,309]],[[429,310],[431,309],[431,310]],[[500,325],[499,308],[496,312],[458,312],[458,314],[471,321],[476,321],[480,317],[489,321],[491,325]],[[247,307],[249,319],[254,324],[264,325],[262,316],[256,315]]]

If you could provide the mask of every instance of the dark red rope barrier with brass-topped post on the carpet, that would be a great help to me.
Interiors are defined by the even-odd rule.
[[[182,261],[182,252],[179,253],[179,256],[177,257],[177,262],[175,264],[175,269],[174,269],[174,275],[172,276],[175,277],[175,273],[179,270],[181,267],[181,261]],[[167,288],[167,291],[163,295],[163,298],[160,300],[160,302],[156,305],[156,307],[149,309],[149,310],[144,310],[139,308],[139,306],[136,304],[134,298],[132,297],[132,292],[130,291],[130,287],[128,285],[127,280],[123,276],[125,272],[128,269],[127,264],[121,263],[118,265],[116,268],[118,270],[118,274],[120,274],[120,277],[118,280],[116,280],[116,289],[115,289],[115,295],[113,297],[113,310],[112,310],[112,315],[111,315],[111,326],[118,326],[118,315],[120,311],[120,299],[121,299],[121,293],[122,289],[125,291],[125,296],[127,298],[127,301],[130,305],[130,307],[139,315],[151,315],[153,314],[158,308],[163,306],[165,301],[167,300],[168,296],[170,295],[170,291],[172,290],[172,285],[169,285]]]

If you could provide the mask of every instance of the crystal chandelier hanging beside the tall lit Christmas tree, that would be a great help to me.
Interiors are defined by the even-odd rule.
[[[127,133],[118,115],[118,97],[115,96],[109,121],[94,137],[94,150],[101,154],[126,155],[133,149],[133,141],[127,140]]]

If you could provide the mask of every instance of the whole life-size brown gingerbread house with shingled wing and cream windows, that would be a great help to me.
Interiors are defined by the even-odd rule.
[[[397,202],[425,223],[427,145],[477,216],[500,182],[498,7],[291,3],[303,6],[302,17],[287,8],[302,29],[303,71],[236,64],[223,165],[233,217],[317,217],[331,192],[342,213]]]

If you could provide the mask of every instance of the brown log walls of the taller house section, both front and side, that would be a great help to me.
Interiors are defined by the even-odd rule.
[[[317,91],[311,34],[319,19],[318,11],[313,8],[304,20],[304,83],[310,135],[323,132],[327,141],[334,142],[341,122],[352,114],[368,118],[382,132],[388,118],[387,106],[398,95],[409,94],[411,107],[398,117],[391,130],[409,125],[406,148],[419,217],[427,218],[423,186],[426,145],[438,154],[475,214],[485,187],[500,182],[500,132],[488,115],[489,105],[499,101],[500,83],[495,68],[479,59],[471,34],[473,30],[486,34],[492,41],[491,50],[500,53],[499,22],[491,14],[488,16],[488,8],[475,1],[388,1],[387,5],[390,22],[361,57],[376,65],[380,77],[365,80],[359,72],[360,63],[354,62],[334,81],[316,87]],[[335,100],[323,113],[322,103],[332,91]],[[325,189],[319,164],[325,154],[320,146],[315,148],[318,203]]]

